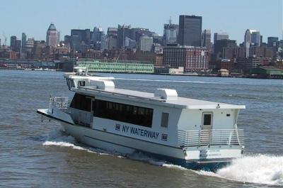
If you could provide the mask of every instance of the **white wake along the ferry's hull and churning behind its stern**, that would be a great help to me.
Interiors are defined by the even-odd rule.
[[[96,148],[79,145],[72,136],[68,136],[64,131],[52,131],[47,140],[42,145],[56,145],[59,147],[68,147],[75,150],[85,150],[89,153],[96,153],[98,155],[113,155],[115,157],[127,157],[132,160],[139,160],[147,162],[151,165],[161,167],[168,167],[177,170],[187,170],[185,167],[173,165],[163,160],[158,160],[154,157],[140,152],[134,152],[129,155],[111,152],[107,150],[100,150]],[[233,160],[231,165],[223,167],[216,172],[207,172],[204,170],[192,172],[198,175],[219,177],[238,182],[247,182],[255,184],[271,184],[283,185],[283,156],[275,155],[247,155],[239,159]]]

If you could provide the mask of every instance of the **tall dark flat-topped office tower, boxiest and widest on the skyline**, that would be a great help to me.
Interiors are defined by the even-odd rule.
[[[202,16],[179,16],[178,43],[202,46]]]

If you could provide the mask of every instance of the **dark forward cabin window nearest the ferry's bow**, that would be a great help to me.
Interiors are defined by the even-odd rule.
[[[82,111],[91,111],[91,99],[88,97],[84,94],[75,94],[70,107]]]

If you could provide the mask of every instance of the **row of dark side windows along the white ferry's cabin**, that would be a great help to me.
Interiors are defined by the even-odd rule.
[[[91,111],[91,96],[75,94],[70,107],[82,111]],[[139,126],[152,127],[154,109],[96,99],[93,104],[93,111],[93,116],[99,118],[108,118]],[[161,115],[162,127],[168,127],[168,118],[169,114],[163,112]]]

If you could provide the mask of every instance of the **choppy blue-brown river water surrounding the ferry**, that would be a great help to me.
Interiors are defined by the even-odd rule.
[[[109,74],[103,74],[109,76]],[[88,148],[36,109],[70,96],[62,72],[0,70],[0,187],[282,187],[283,82],[272,79],[110,74],[116,87],[244,104],[246,154],[216,173],[186,170],[136,153]]]

